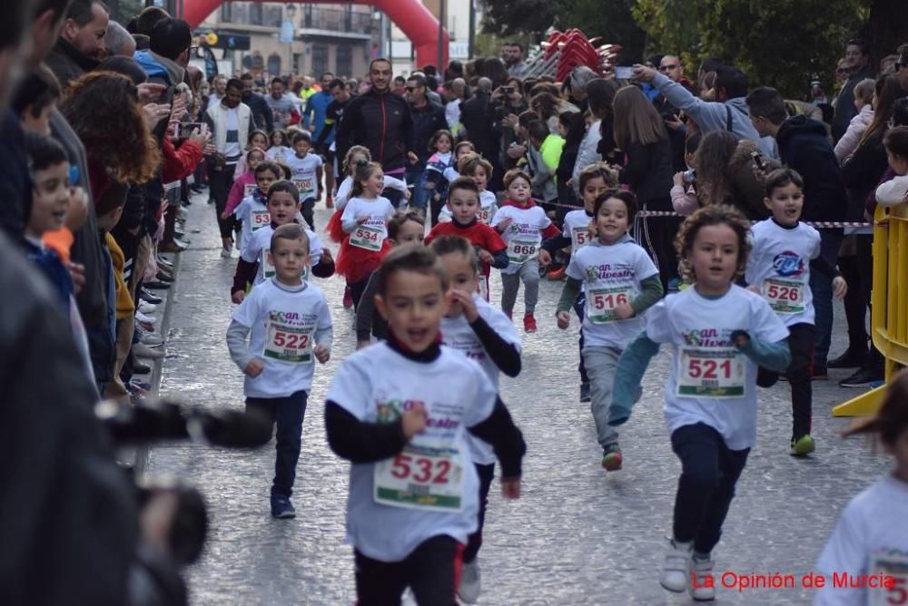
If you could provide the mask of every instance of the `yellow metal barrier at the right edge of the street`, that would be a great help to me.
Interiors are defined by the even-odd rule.
[[[873,217],[873,346],[886,360],[886,383],[908,366],[908,204],[877,207]],[[834,416],[870,416],[883,403],[885,386],[833,408]]]

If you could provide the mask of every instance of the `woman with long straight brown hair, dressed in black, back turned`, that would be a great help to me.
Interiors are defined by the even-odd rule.
[[[625,154],[618,181],[637,194],[640,210],[671,211],[672,146],[662,116],[636,86],[615,94],[615,142]],[[681,221],[675,217],[642,218],[636,237],[656,258],[662,288],[676,287],[677,254],[672,242]]]

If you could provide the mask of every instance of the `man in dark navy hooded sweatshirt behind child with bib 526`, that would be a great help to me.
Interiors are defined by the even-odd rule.
[[[761,137],[774,137],[782,161],[804,179],[804,221],[843,221],[848,207],[839,162],[835,159],[826,127],[805,116],[788,118],[785,100],[774,88],[754,89],[747,95],[750,119]],[[820,254],[835,265],[842,244],[842,230],[820,230]],[[833,331],[832,279],[811,272],[810,288],[816,311],[814,378],[826,378],[826,356]]]

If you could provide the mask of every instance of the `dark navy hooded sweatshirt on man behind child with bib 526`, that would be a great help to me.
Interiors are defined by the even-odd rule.
[[[839,161],[822,122],[795,116],[775,135],[782,161],[804,178],[805,221],[845,220],[848,198]]]

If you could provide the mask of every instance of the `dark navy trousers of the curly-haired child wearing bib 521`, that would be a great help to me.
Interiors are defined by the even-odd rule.
[[[672,432],[672,450],[681,460],[675,540],[693,541],[697,553],[712,552],[722,536],[722,524],[750,449],[731,450],[716,429],[696,423]]]

